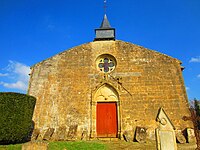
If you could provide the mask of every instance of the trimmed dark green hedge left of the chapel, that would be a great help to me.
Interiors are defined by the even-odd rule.
[[[0,92],[0,144],[23,142],[32,130],[36,98]]]

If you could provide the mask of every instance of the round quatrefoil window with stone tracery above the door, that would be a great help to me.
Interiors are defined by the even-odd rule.
[[[116,60],[113,56],[104,54],[97,58],[96,64],[100,72],[109,73],[115,69]]]

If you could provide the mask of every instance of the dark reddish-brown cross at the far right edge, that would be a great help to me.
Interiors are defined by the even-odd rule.
[[[193,122],[194,134],[195,134],[195,137],[196,137],[196,140],[197,140],[196,141],[196,143],[197,143],[196,150],[200,150],[200,135],[199,135],[199,129],[198,129],[198,121],[200,121],[200,117],[197,116],[194,109],[190,109],[190,112],[191,112],[191,116],[190,117],[184,116],[183,120],[184,121],[190,120],[190,121]]]

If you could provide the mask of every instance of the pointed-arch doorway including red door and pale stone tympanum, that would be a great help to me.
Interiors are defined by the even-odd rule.
[[[102,85],[95,93],[96,136],[118,137],[119,99],[117,91],[110,85]]]

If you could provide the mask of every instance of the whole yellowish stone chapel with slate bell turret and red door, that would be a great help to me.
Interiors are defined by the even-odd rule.
[[[163,109],[174,130],[192,128],[181,61],[115,39],[106,15],[94,41],[31,67],[28,94],[37,98],[33,121],[40,136],[63,139],[134,138],[137,127],[155,140]],[[72,131],[73,130],[73,131]]]

